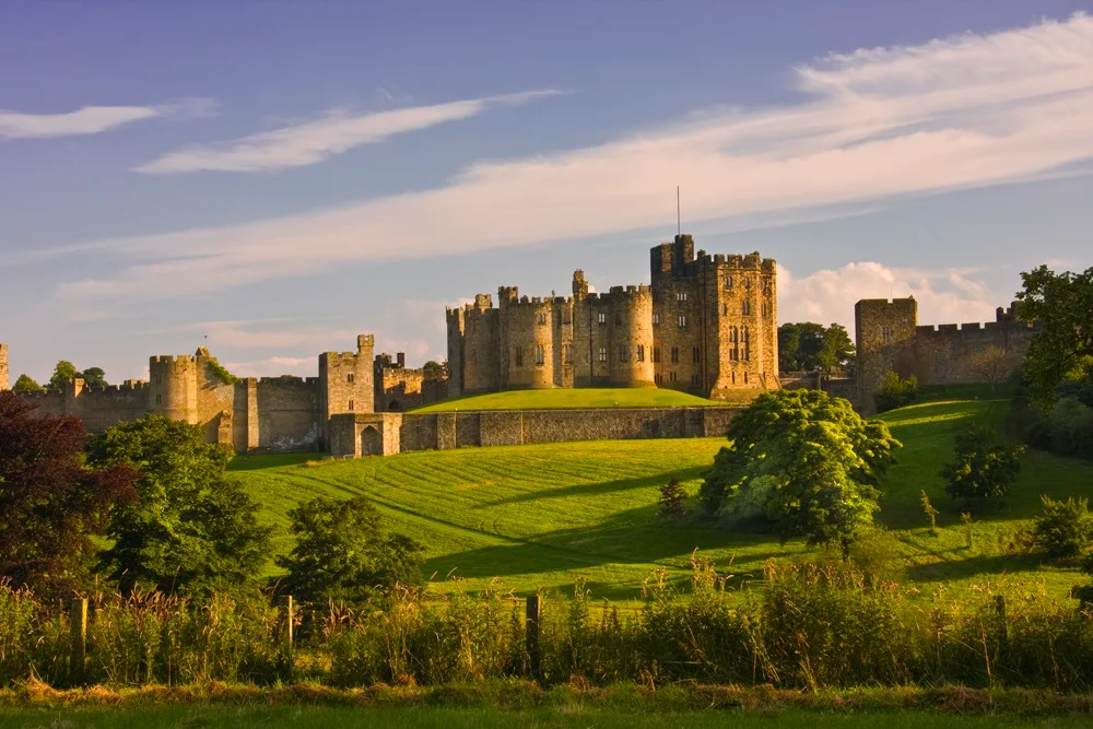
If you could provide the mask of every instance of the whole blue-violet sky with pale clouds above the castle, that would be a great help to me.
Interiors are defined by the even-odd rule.
[[[0,341],[314,375],[446,306],[648,282],[680,217],[780,321],[992,320],[1093,266],[1093,0],[0,3]]]

